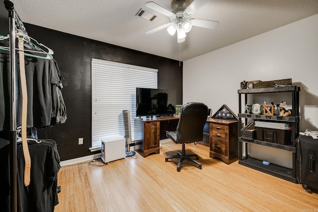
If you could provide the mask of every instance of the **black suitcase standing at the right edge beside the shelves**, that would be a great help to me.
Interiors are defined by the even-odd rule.
[[[296,139],[296,176],[303,188],[312,193],[318,191],[318,139],[300,135]]]

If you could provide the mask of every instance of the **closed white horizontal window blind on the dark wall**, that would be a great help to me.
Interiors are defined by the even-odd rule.
[[[92,59],[91,150],[101,147],[105,136],[124,136],[123,109],[130,110],[134,141],[136,87],[157,88],[158,70]]]

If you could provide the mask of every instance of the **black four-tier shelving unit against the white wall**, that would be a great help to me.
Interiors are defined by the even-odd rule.
[[[250,140],[239,137],[239,164],[256,169],[258,171],[262,171],[267,174],[271,174],[276,177],[280,177],[282,179],[291,181],[293,183],[298,183],[296,178],[296,153],[297,147],[295,146],[295,139],[299,136],[299,122],[301,117],[299,116],[299,91],[300,87],[297,86],[285,86],[285,87],[272,87],[272,88],[254,88],[254,89],[240,89],[239,93],[239,123],[241,123],[242,119],[245,120],[245,125],[247,124],[247,119],[254,120],[264,120],[271,122],[281,122],[281,123],[289,123],[292,127],[292,135],[288,144],[278,144],[267,141],[258,141],[258,140]],[[264,115],[254,115],[254,114],[246,114],[241,113],[241,97],[244,96],[245,104],[247,104],[247,95],[248,94],[257,94],[257,93],[279,93],[279,92],[290,92],[292,95],[292,116],[264,116]],[[245,148],[245,156],[242,155],[242,148]],[[262,145],[271,148],[277,148],[282,150],[287,150],[292,152],[293,154],[293,168],[286,168],[283,166],[279,166],[276,164],[264,165],[261,160],[249,157],[248,155],[248,145]]]

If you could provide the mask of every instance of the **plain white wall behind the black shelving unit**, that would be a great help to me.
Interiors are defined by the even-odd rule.
[[[241,81],[286,78],[301,87],[300,131],[317,131],[318,14],[184,61],[183,103],[203,102],[213,113],[226,104],[238,114]]]

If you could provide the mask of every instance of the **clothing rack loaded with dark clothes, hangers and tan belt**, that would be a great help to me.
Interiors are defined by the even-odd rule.
[[[0,35],[0,134],[9,132],[10,141],[0,139],[0,211],[9,212],[10,204],[14,204],[19,212],[53,212],[58,204],[60,169],[56,143],[27,139],[26,129],[45,128],[60,120],[60,114],[54,111],[60,111],[62,93],[53,86],[62,88],[61,76],[52,60],[54,52],[28,36],[12,2],[6,0],[4,4],[9,11],[10,36]],[[8,45],[8,38],[10,45],[18,40],[19,55],[15,54],[16,46]],[[16,62],[9,60],[17,56]],[[17,105],[11,97],[16,97]],[[16,109],[16,114],[11,113],[11,108]],[[63,108],[66,111],[65,105]],[[54,117],[58,119],[51,122]],[[15,143],[17,136],[11,135],[12,131],[17,133],[18,126],[22,143]]]

